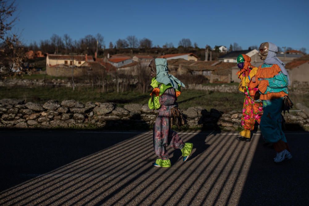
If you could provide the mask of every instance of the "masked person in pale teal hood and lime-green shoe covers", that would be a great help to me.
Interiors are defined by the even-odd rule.
[[[179,79],[168,74],[167,60],[162,58],[153,59],[150,62],[151,86],[148,106],[150,109],[158,110],[158,117],[153,129],[153,141],[155,154],[159,157],[153,163],[157,167],[170,167],[166,146],[180,149],[183,161],[188,160],[193,149],[192,143],[184,143],[177,132],[171,130],[172,125],[181,126],[186,124],[183,114],[178,109],[177,97],[181,93],[181,87],[185,87]]]

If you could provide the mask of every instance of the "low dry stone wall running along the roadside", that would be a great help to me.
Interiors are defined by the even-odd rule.
[[[300,107],[300,106],[299,106]],[[307,110],[306,110],[307,109]],[[188,128],[237,130],[241,127],[241,111],[222,113],[202,107],[182,110],[187,116]],[[287,123],[309,127],[308,108],[285,115]],[[148,105],[127,104],[123,108],[116,103],[76,100],[49,100],[44,104],[25,103],[16,99],[0,100],[1,128],[114,128],[146,129],[156,120],[157,111]]]

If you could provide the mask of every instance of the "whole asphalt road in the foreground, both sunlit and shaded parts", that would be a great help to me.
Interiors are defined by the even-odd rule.
[[[260,133],[181,132],[193,153],[151,166],[151,132],[0,131],[0,205],[308,205],[309,133],[286,133],[274,163]]]

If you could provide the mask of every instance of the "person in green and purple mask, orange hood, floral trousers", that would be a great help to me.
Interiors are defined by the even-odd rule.
[[[243,116],[241,117],[241,126],[243,130],[239,132],[240,137],[237,137],[237,140],[241,141],[251,140],[251,131],[254,129],[255,122],[260,124],[263,113],[262,103],[255,97],[259,89],[257,87],[250,88],[248,86],[250,80],[257,72],[257,67],[252,66],[250,62],[251,58],[248,55],[239,54],[237,57],[237,66],[240,69],[240,71],[237,72],[238,78],[240,79],[238,89],[245,95],[243,101]]]

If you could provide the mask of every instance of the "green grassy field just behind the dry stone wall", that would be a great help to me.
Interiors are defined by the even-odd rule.
[[[150,92],[149,92],[150,93]],[[80,102],[115,102],[117,106],[123,107],[129,103],[148,103],[149,93],[139,92],[116,92],[100,93],[99,90],[92,90],[86,87],[77,87],[75,91],[64,87],[0,87],[0,99],[25,99],[26,102],[45,103],[50,99],[58,101],[66,99],[75,99]],[[290,98],[296,104],[301,102],[309,107],[309,95],[290,95]],[[241,93],[218,93],[202,90],[184,90],[178,97],[180,109],[188,107],[201,106],[207,110],[215,108],[219,111],[241,110],[243,107],[243,94]]]

